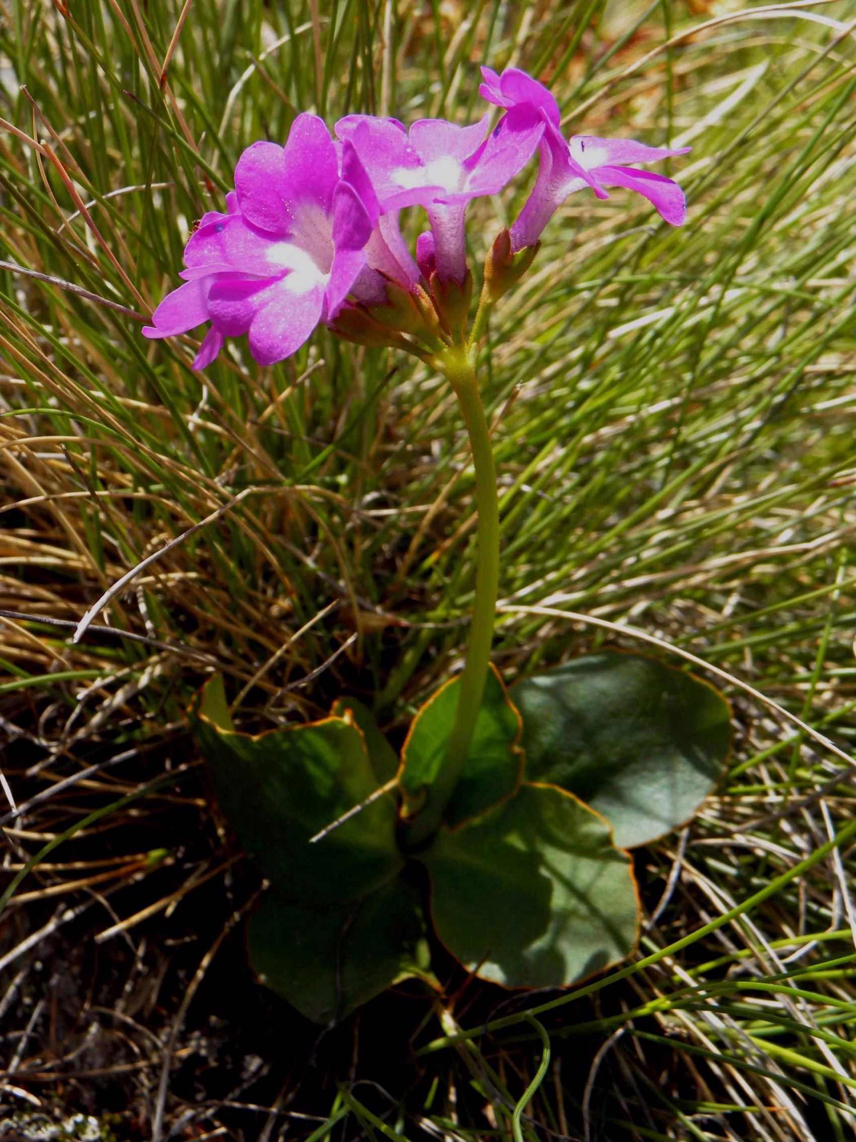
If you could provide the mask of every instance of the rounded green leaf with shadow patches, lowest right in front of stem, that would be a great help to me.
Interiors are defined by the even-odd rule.
[[[469,971],[506,987],[564,987],[625,958],[639,904],[627,853],[603,818],[556,786],[518,794],[420,860],[437,935]]]

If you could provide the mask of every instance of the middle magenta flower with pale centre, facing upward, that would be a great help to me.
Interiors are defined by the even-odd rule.
[[[354,145],[381,212],[422,206],[434,235],[441,281],[467,275],[463,216],[470,199],[496,194],[534,154],[544,127],[530,106],[512,108],[487,136],[487,116],[470,127],[420,119],[410,131],[397,119],[346,115],[334,127]]]

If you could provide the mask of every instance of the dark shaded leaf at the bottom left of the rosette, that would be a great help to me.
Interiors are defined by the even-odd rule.
[[[248,926],[259,980],[307,1019],[331,1023],[409,976],[431,982],[418,896],[401,877],[331,911],[268,892]]]

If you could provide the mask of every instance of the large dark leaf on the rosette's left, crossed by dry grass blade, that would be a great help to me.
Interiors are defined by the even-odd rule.
[[[277,892],[315,907],[344,904],[398,871],[390,796],[309,844],[378,788],[363,734],[349,716],[252,737],[216,725],[204,713],[210,708],[203,694],[196,733],[217,801]]]

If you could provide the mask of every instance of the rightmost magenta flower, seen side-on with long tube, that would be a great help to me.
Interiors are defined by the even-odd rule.
[[[686,154],[689,147],[654,147],[632,139],[601,139],[574,135],[566,142],[559,124],[559,106],[547,88],[516,67],[501,75],[483,67],[485,82],[479,93],[508,114],[520,107],[536,111],[544,122],[539,144],[538,180],[520,216],[511,227],[511,250],[534,246],[555,210],[573,194],[589,186],[600,199],[608,198],[606,186],[624,186],[644,195],[672,226],[680,226],[686,215],[684,192],[671,178],[637,170],[625,163],[657,162]]]

